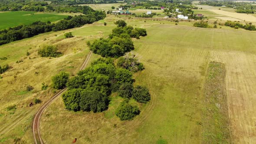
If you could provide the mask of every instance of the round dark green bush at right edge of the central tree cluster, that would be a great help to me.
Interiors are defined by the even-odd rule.
[[[142,86],[136,86],[133,90],[132,98],[141,103],[147,103],[150,101],[151,96],[148,88]]]

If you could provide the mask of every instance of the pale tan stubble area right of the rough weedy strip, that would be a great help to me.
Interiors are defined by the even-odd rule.
[[[226,65],[226,91],[235,144],[256,144],[256,55],[211,52]]]

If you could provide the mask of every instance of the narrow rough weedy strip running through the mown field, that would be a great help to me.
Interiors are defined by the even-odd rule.
[[[210,62],[204,91],[202,114],[203,144],[230,144],[231,131],[225,88],[225,65]]]

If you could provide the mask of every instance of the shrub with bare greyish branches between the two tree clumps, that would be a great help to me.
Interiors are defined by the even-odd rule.
[[[140,63],[137,57],[132,53],[127,53],[124,57],[120,57],[117,61],[120,68],[128,69],[131,72],[137,72],[144,69],[143,64]]]

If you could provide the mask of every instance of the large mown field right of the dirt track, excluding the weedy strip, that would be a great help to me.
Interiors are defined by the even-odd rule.
[[[105,20],[112,21],[112,17],[115,16]],[[207,64],[214,60],[226,65],[227,106],[230,127],[234,131],[232,141],[256,142],[253,122],[256,88],[252,82],[256,80],[256,72],[249,71],[252,65],[235,65],[237,61],[241,64],[255,62],[246,58],[255,57],[255,32],[126,20],[128,24],[148,31],[148,36],[134,39],[135,54],[145,66],[145,70],[134,78],[135,85],[149,88],[150,103],[140,105],[141,114],[133,121],[120,121],[114,109],[121,99],[115,94],[111,96],[108,110],[103,113],[66,111],[62,98],[58,98],[46,109],[41,121],[41,134],[46,143],[69,143],[75,137],[81,144],[201,143],[204,134],[201,125],[203,87]],[[82,29],[79,33],[82,34]],[[240,72],[234,72],[235,69]],[[241,90],[239,95],[238,90]],[[235,101],[233,95],[237,95],[239,101]]]

